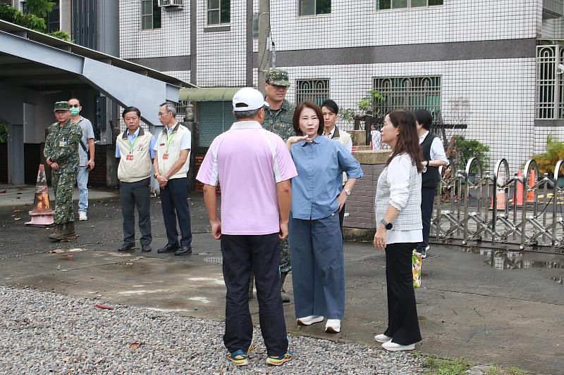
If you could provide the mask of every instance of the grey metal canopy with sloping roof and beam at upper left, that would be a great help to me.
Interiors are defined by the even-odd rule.
[[[0,80],[34,91],[94,88],[121,106],[136,106],[159,126],[157,108],[195,87],[157,70],[0,20]]]

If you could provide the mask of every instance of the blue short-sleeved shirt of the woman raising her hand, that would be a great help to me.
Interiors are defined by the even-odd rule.
[[[343,172],[358,179],[360,163],[339,142],[316,136],[311,143],[293,144],[290,153],[298,176],[292,179],[292,217],[318,220],[338,211]]]

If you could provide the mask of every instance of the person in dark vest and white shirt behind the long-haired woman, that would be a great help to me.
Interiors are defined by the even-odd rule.
[[[417,244],[415,249],[423,258],[427,258],[429,250],[429,231],[431,229],[431,216],[433,215],[433,203],[435,201],[436,186],[441,181],[439,167],[448,165],[445,149],[441,139],[429,133],[433,115],[428,110],[415,111],[417,118],[417,134],[419,144],[423,149],[423,173],[421,184],[421,218],[423,222],[423,242]]]

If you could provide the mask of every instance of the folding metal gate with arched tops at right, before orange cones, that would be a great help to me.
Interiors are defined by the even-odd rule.
[[[513,176],[504,158],[492,174],[477,159],[464,171],[441,179],[431,236],[463,245],[498,247],[513,244],[520,250],[544,248],[564,253],[564,160],[549,177],[539,176],[535,160],[528,160]]]

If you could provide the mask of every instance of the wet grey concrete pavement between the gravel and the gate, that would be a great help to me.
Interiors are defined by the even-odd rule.
[[[148,255],[140,249],[116,252],[121,212],[115,198],[91,201],[90,220],[77,223],[80,237],[71,243],[51,243],[46,229],[24,227],[25,220],[11,216],[23,212],[0,208],[0,283],[223,320],[219,241],[207,233],[202,197],[191,196],[190,203],[195,232],[190,257],[156,253],[165,242],[157,198],[152,198],[155,250]],[[54,248],[65,252],[44,253]],[[70,260],[67,253],[73,255]],[[423,263],[422,288],[416,291],[424,338],[417,350],[539,374],[562,373],[564,255],[442,245],[432,246],[430,254]],[[345,243],[347,300],[341,333],[326,334],[319,324],[297,326],[291,303],[286,305],[288,331],[376,346],[373,336],[387,322],[384,265],[384,253],[371,244]],[[291,294],[291,284],[288,289]],[[258,324],[256,299],[251,310]]]

